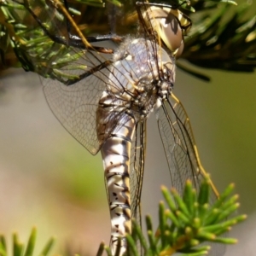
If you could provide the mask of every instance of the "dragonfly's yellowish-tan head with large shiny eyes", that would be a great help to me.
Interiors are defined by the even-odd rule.
[[[192,23],[187,15],[178,9],[153,6],[148,9],[148,18],[160,41],[172,51],[176,58],[183,52],[183,35]]]

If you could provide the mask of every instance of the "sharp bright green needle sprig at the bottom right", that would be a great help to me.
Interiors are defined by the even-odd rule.
[[[154,232],[152,219],[146,217],[147,241],[139,225],[133,220],[132,236],[127,235],[128,247],[131,247],[127,255],[206,255],[210,247],[202,246],[202,243],[236,243],[236,239],[222,236],[232,226],[247,218],[246,215],[230,218],[237,209],[238,196],[231,195],[234,185],[228,186],[213,203],[210,189],[209,177],[202,181],[197,198],[191,182],[186,183],[183,199],[175,189],[168,191],[166,187],[162,187],[166,206],[164,202],[160,202],[159,228]],[[137,242],[143,244],[143,254],[138,251]]]

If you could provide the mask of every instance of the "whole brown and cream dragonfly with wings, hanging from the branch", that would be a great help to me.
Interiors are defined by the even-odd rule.
[[[38,25],[26,43],[37,47],[26,50],[21,61],[29,59],[29,68],[44,77],[44,95],[61,125],[90,154],[102,154],[110,246],[116,253],[120,239],[122,255],[127,248],[125,234],[131,233],[131,218],[141,223],[146,130],[152,112],[172,186],[182,194],[188,179],[199,189],[206,176],[189,117],[172,92],[175,62],[192,22],[178,6],[137,2],[136,36],[84,37],[67,1],[12,2],[24,7]],[[106,41],[113,48],[99,44]],[[218,196],[213,183],[212,194]]]

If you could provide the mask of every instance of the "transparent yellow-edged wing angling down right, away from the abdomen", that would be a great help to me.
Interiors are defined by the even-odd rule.
[[[195,146],[195,139],[189,122],[189,117],[181,102],[175,96],[170,96],[157,113],[160,137],[165,149],[166,160],[172,178],[172,186],[183,195],[183,188],[187,179],[191,180],[195,189],[199,191],[201,179],[206,172]],[[215,201],[218,191],[211,182],[211,200]],[[221,256],[224,254],[223,244],[210,244],[210,255]]]

